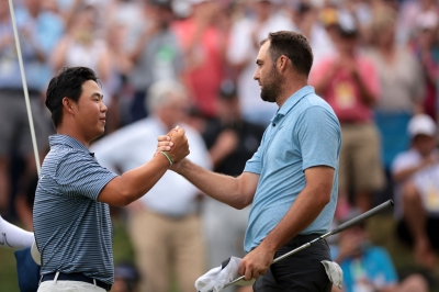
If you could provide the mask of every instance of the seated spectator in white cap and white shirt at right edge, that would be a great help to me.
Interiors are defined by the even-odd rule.
[[[396,156],[392,165],[395,186],[397,234],[414,247],[415,260],[434,268],[439,247],[439,149],[437,126],[427,114],[408,123],[412,147]]]

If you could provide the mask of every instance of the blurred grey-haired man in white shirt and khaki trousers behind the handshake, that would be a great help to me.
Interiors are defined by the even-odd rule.
[[[151,85],[149,116],[91,146],[100,164],[113,171],[140,166],[155,151],[157,136],[178,124],[191,143],[189,158],[210,168],[202,137],[182,123],[189,110],[185,92],[177,81]],[[147,194],[128,206],[128,234],[142,278],[139,291],[168,291],[172,274],[177,276],[179,291],[194,291],[193,283],[205,268],[199,196],[200,191],[189,181],[168,171]]]

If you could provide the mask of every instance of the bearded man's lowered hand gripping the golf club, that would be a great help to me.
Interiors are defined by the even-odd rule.
[[[239,266],[239,274],[245,276],[245,280],[257,279],[264,274],[273,262],[274,251],[264,248],[263,244],[251,250],[244,257]]]

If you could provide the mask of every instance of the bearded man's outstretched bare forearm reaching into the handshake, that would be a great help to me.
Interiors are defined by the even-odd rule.
[[[180,164],[173,170],[209,196],[236,209],[243,209],[251,203],[252,198],[246,198],[237,178],[206,170],[188,159]]]

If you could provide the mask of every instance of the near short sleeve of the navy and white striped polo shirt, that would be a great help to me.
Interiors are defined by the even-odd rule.
[[[103,168],[90,154],[70,151],[56,170],[60,191],[68,196],[85,196],[98,201],[99,193],[117,175]]]

